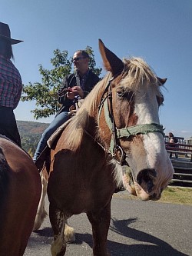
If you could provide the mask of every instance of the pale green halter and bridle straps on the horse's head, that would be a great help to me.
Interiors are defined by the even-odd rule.
[[[104,90],[103,96],[101,98],[101,103],[98,106],[98,122],[101,116],[101,110],[104,108],[104,117],[105,121],[108,125],[109,130],[111,131],[111,143],[109,150],[111,155],[115,158],[115,160],[118,162],[118,164],[122,165],[126,154],[124,153],[123,149],[121,148],[121,145],[118,143],[120,138],[130,138],[130,136],[138,135],[138,134],[147,134],[149,132],[160,132],[164,136],[164,129],[163,125],[158,125],[155,123],[151,124],[144,124],[144,125],[134,125],[126,128],[118,129],[115,125],[114,121],[114,114],[113,114],[113,107],[112,107],[112,91],[111,91],[111,84],[114,78],[116,78],[117,75],[113,78],[111,78],[108,81],[108,85]],[[108,91],[108,95],[104,97],[104,94]],[[109,99],[107,101],[106,99]],[[109,104],[110,103],[110,104]],[[120,155],[120,156],[118,156]],[[120,160],[118,160],[120,158]]]

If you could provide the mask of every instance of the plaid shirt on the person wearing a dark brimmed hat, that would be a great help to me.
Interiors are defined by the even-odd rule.
[[[0,105],[15,109],[22,95],[22,78],[15,65],[0,55]]]

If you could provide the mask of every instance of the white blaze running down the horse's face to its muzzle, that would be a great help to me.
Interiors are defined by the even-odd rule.
[[[148,88],[147,91],[140,88],[140,93],[135,97],[134,112],[138,117],[137,125],[160,124],[157,98],[152,90],[153,88]],[[154,169],[157,172],[157,178],[154,178],[154,188],[151,193],[145,191],[137,184],[137,181],[134,181],[137,195],[143,200],[147,200],[151,194],[157,194],[157,198],[158,196],[161,197],[161,191],[167,187],[174,169],[168,158],[164,138],[160,132],[149,132],[147,135],[142,135],[142,138],[146,152],[145,168]]]

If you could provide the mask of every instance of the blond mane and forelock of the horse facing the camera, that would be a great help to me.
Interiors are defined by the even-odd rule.
[[[77,114],[72,118],[69,124],[69,134],[65,137],[65,143],[69,145],[71,150],[76,151],[79,145],[81,145],[81,138],[84,134],[84,129],[86,129],[88,125],[91,113],[98,108],[98,94],[104,91],[111,77],[111,73],[108,73],[94,86],[89,95],[84,99],[84,103]],[[124,58],[124,71],[122,72],[121,85],[133,91],[137,91],[137,88],[141,85],[151,85],[154,87],[156,94],[161,95],[157,76],[142,58]]]

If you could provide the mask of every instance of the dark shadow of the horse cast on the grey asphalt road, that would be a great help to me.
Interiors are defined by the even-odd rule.
[[[108,251],[110,251],[111,256],[162,256],[162,255],[171,255],[171,256],[188,256],[187,254],[181,253],[180,251],[175,250],[167,244],[165,241],[162,241],[159,238],[154,237],[151,234],[147,234],[143,231],[138,231],[134,228],[129,228],[128,226],[131,223],[137,221],[137,218],[130,218],[128,220],[117,220],[111,218],[110,230],[116,234],[120,234],[127,238],[133,239],[134,242],[137,241],[137,244],[123,244],[115,241],[108,240]],[[39,237],[43,239],[43,244],[51,244],[52,241],[52,230],[51,228],[44,228],[39,231],[35,231],[36,237],[30,238],[29,246],[32,244],[41,244]],[[85,233],[80,234],[76,233],[76,241],[74,244],[88,244],[92,248],[92,235]],[[141,244],[146,243],[146,244]],[[72,244],[70,246],[73,246]]]

